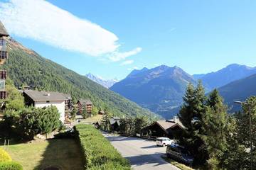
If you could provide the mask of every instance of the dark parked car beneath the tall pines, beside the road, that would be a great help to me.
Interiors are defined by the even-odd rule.
[[[188,150],[179,145],[168,145],[166,147],[166,155],[167,157],[174,159],[178,162],[182,162],[185,164],[193,163],[193,156],[188,152]]]

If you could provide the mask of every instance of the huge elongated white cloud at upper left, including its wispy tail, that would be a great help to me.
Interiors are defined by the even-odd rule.
[[[119,52],[117,35],[44,0],[0,2],[0,18],[11,34],[112,61],[141,50]]]

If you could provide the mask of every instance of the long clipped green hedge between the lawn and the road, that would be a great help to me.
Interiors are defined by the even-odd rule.
[[[82,152],[85,156],[85,167],[90,170],[128,170],[131,169],[127,159],[124,159],[117,149],[102,136],[102,133],[92,125],[76,125]]]

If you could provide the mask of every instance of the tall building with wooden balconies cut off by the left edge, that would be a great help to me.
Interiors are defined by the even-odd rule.
[[[7,60],[8,54],[6,50],[6,37],[9,34],[4,28],[3,23],[0,21],[0,64],[4,64]],[[6,80],[6,71],[0,70],[0,99],[5,99],[7,94],[5,91],[5,80]]]

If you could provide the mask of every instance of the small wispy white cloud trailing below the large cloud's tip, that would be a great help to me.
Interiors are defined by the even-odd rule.
[[[108,59],[110,59],[112,62],[118,62],[120,60],[124,60],[127,57],[131,56],[131,55],[137,55],[137,53],[141,52],[142,48],[141,47],[137,47],[134,50],[131,50],[129,52],[112,52],[112,54],[110,54],[108,56]]]

